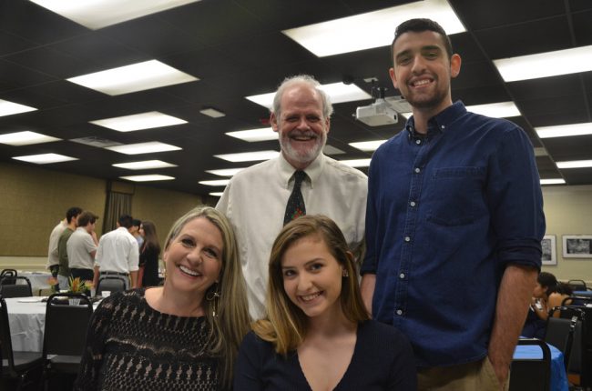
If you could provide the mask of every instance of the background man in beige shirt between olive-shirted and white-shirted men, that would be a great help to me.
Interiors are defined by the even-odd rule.
[[[97,216],[84,211],[78,216],[78,226],[67,241],[67,259],[70,276],[81,281],[94,280],[95,255],[97,254]]]

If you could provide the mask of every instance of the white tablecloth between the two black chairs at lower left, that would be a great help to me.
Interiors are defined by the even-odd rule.
[[[46,328],[46,303],[41,302],[42,298],[34,296],[5,299],[13,350],[41,352]],[[32,302],[33,300],[36,302]]]

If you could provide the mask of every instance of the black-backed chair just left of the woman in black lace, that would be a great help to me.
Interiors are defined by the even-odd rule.
[[[80,305],[70,306],[66,300],[71,298],[79,299]],[[85,295],[56,293],[49,296],[42,353],[46,384],[49,377],[58,373],[77,374],[92,315],[93,306]]]

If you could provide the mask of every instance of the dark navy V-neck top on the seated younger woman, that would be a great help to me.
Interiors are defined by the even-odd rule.
[[[335,391],[415,391],[417,377],[407,338],[392,326],[369,320],[358,326],[350,365]],[[284,357],[250,332],[242,341],[234,391],[310,391],[298,353]]]

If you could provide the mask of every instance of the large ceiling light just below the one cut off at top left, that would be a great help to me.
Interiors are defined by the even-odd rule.
[[[83,85],[107,95],[128,94],[196,80],[199,80],[199,78],[183,73],[157,60],[120,66],[107,69],[107,71],[67,79],[69,82]]]

